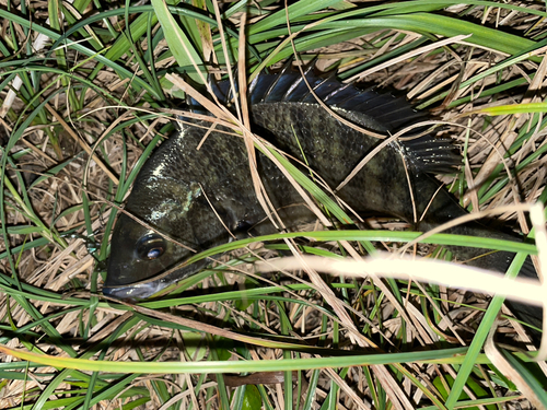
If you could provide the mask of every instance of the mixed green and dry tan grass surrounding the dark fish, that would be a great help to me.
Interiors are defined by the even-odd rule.
[[[417,238],[394,220],[368,220],[374,231],[307,227],[300,239],[235,242],[198,255],[237,253],[184,280],[168,297],[131,306],[101,296],[118,213],[113,204],[123,203],[173,129],[162,109],[179,104],[183,92],[170,79],[185,74],[203,83],[238,62],[253,78],[295,50],[306,61],[317,56],[319,69],[336,68],[342,80],[365,74],[430,109],[445,124],[441,133],[463,147],[461,172],[442,177],[461,203],[469,211],[503,207],[503,224],[540,238],[542,230],[511,206],[545,203],[545,5],[373,4],[75,0],[0,9],[0,129],[8,137],[0,189],[0,407],[547,407],[545,363],[514,350],[525,345],[512,338],[522,333],[520,325],[502,321],[503,345],[488,338],[499,296],[488,307],[489,297],[442,283],[314,271],[260,276],[249,267],[291,247],[340,258]],[[349,219],[270,152],[330,215]],[[281,238],[300,242],[270,242]],[[437,234],[417,250],[450,259],[439,245],[462,241]],[[474,241],[519,253],[510,273],[536,251],[528,244]],[[283,372],[284,386],[230,387],[229,373],[265,371]]]

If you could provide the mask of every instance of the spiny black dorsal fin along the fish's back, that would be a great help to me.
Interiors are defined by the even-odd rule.
[[[317,75],[315,63],[304,70],[307,83],[323,102],[331,107],[360,113],[382,124],[391,133],[412,124],[424,121],[428,117],[419,113],[403,97],[374,87],[360,89],[353,83],[344,84],[335,75]],[[232,92],[228,81],[211,83],[216,96],[221,103],[230,103]],[[248,86],[251,109],[254,104],[310,103],[316,102],[301,73],[287,63],[275,74],[258,74]],[[412,133],[423,132],[423,127]],[[408,136],[405,136],[408,137]],[[454,172],[461,164],[452,140],[435,138],[430,133],[412,140],[399,141],[406,157],[417,171],[434,174]]]

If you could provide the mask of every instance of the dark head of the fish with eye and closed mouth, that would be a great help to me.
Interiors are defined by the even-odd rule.
[[[136,185],[126,206],[128,214],[119,216],[113,232],[105,295],[147,298],[203,266],[193,263],[163,274],[196,250],[193,222],[200,207],[194,202],[199,196],[199,185],[173,179],[141,179]]]

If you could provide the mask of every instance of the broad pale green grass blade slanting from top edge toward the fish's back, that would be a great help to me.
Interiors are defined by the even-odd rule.
[[[201,60],[199,49],[196,49],[198,45],[194,45],[186,36],[178,23],[173,19],[164,0],[152,0],[152,5],[178,66],[194,66],[196,73],[188,73],[188,75],[193,80],[205,84],[206,79],[203,74],[207,74],[207,72],[203,69],[203,61]]]

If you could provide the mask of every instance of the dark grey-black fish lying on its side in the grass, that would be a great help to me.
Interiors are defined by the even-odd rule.
[[[228,81],[212,83],[212,89],[221,103],[231,101]],[[294,164],[304,173],[309,169],[301,164],[307,164],[333,189],[382,141],[339,120],[316,97],[346,121],[383,134],[428,119],[404,97],[344,84],[336,75],[316,74],[313,65],[303,75],[289,66],[278,73],[260,73],[247,94],[253,131],[298,160]],[[189,105],[202,110],[191,99]],[[243,140],[222,126],[208,133],[210,122],[186,120],[190,124],[163,142],[137,176],[125,207],[133,218],[124,213],[115,224],[103,288],[107,296],[148,298],[207,265],[201,260],[162,274],[194,253],[226,244],[232,235],[244,237],[249,229],[253,235],[278,232],[256,197]],[[453,173],[461,156],[450,138],[424,132],[423,127],[411,132],[421,134],[384,147],[336,196],[360,215],[392,215],[427,232],[467,214],[433,176]],[[256,163],[266,192],[288,230],[316,220],[272,161],[257,152]],[[477,222],[447,232],[521,241]],[[459,260],[473,259],[469,265],[498,272],[505,272],[514,257],[508,251],[470,247],[450,250]],[[521,276],[537,278],[529,258]],[[540,327],[540,308],[519,303],[511,307],[521,319]]]

